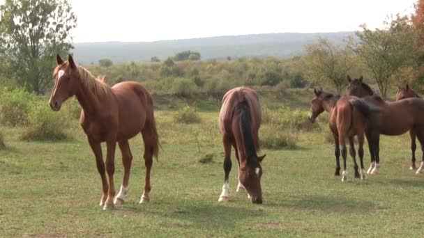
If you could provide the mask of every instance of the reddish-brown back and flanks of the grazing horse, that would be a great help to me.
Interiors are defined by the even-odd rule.
[[[261,124],[261,107],[259,98],[255,90],[246,87],[237,87],[229,90],[222,97],[222,106],[220,109],[219,125],[222,134],[229,133],[229,127],[232,122],[233,111],[239,102],[246,100],[250,107],[250,116],[252,118],[253,130],[257,132]]]

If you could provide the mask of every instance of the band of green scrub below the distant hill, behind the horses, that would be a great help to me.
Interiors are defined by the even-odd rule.
[[[172,58],[160,63],[87,65],[95,75],[106,75],[109,85],[121,81],[140,81],[153,93],[190,97],[199,93],[222,97],[235,86],[278,86],[304,88],[305,61],[289,59],[239,58],[236,61],[181,61]]]

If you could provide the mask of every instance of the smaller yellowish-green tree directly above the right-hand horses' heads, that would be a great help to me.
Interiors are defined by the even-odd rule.
[[[354,65],[354,51],[351,38],[345,45],[333,45],[324,38],[305,46],[308,63],[308,77],[315,78],[323,84],[332,84],[338,93],[346,84],[346,77]]]

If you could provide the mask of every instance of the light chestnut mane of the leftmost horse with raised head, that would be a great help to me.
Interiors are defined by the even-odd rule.
[[[91,90],[95,95],[102,96],[112,93],[109,85],[105,83],[105,77],[98,79],[82,66],[78,67],[78,72],[84,87]]]

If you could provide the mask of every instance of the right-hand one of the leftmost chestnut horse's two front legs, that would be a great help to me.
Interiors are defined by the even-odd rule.
[[[111,136],[106,141],[107,154],[106,154],[106,171],[109,176],[109,189],[107,191],[107,199],[105,202],[104,210],[114,208],[114,196],[115,196],[115,184],[114,184],[114,173],[115,173],[115,148],[116,138]]]

